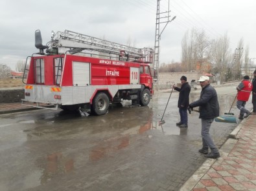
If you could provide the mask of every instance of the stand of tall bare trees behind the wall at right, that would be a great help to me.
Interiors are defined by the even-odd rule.
[[[198,72],[211,72],[220,74],[220,82],[240,79],[242,65],[250,66],[249,46],[243,48],[244,40],[241,38],[231,53],[227,34],[215,40],[209,39],[204,30],[185,32],[181,41],[181,68],[183,72],[197,70]],[[244,51],[245,50],[245,51]]]

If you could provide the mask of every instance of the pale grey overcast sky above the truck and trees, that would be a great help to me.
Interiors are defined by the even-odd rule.
[[[154,48],[156,7],[157,0],[1,0],[0,64],[15,70],[17,61],[37,52],[38,29],[43,45],[52,30],[67,29],[124,45],[130,38],[137,48]],[[255,0],[170,0],[170,19],[176,19],[165,30],[160,25],[160,63],[181,60],[181,39],[192,28],[204,29],[211,39],[227,33],[232,52],[243,37],[249,57],[256,57],[255,9]],[[160,12],[167,10],[168,0],[161,0]]]

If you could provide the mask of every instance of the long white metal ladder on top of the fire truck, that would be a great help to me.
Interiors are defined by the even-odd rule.
[[[67,48],[69,48],[71,54],[81,52],[82,50],[93,50],[119,55],[119,59],[121,57],[132,57],[145,63],[152,63],[154,57],[154,50],[152,48],[134,48],[70,30],[56,32],[52,36],[51,47],[58,48],[58,54],[65,54]]]

